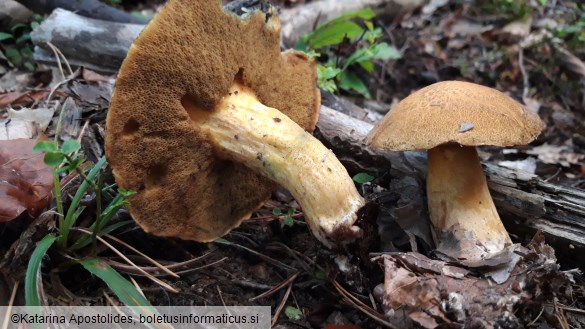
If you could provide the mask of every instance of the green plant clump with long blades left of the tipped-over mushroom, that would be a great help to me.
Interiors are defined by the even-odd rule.
[[[62,117],[57,123],[57,131],[61,119]],[[116,192],[112,186],[104,186],[104,172],[107,167],[105,157],[99,159],[94,165],[84,166],[85,158],[80,149],[81,145],[77,141],[68,140],[59,144],[57,138],[52,141],[41,141],[33,148],[35,152],[44,152],[44,162],[53,168],[57,232],[49,233],[41,239],[32,253],[25,278],[26,304],[28,306],[41,305],[41,294],[37,285],[37,282],[40,282],[41,261],[50,248],[56,248],[74,263],[82,265],[87,271],[103,280],[124,304],[149,306],[149,301],[134,285],[97,257],[95,248],[98,236],[112,232],[130,222],[110,223],[114,215],[127,204],[124,197],[133,193],[123,189],[118,189]],[[81,177],[82,182],[65,210],[59,178],[61,174],[73,172]],[[81,200],[89,195],[95,197],[95,221],[87,229],[91,233],[72,237],[70,232],[74,230],[77,220],[86,211],[86,206],[82,205]]]

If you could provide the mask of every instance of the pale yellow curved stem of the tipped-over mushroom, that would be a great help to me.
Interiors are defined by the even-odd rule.
[[[235,83],[213,111],[183,102],[219,157],[241,163],[287,188],[313,234],[326,246],[359,235],[365,204],[333,152],[253,91]]]

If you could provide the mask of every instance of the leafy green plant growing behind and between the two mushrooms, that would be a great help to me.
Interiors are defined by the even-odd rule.
[[[386,42],[379,42],[382,29],[375,28],[371,9],[346,13],[329,20],[301,37],[295,49],[317,57],[318,85],[328,92],[339,89],[355,91],[366,98],[370,92],[356,74],[358,68],[374,71],[374,60],[399,59],[400,52]]]

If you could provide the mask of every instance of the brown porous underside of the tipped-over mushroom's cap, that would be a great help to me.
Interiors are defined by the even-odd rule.
[[[220,1],[171,0],[136,39],[116,82],[106,155],[147,231],[211,241],[250,216],[275,184],[216,157],[185,106],[212,111],[237,79],[308,131],[320,104],[315,63],[280,52],[280,23]]]

